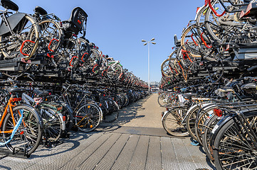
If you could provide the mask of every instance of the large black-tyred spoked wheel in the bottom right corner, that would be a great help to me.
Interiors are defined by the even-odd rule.
[[[252,128],[256,133],[256,115],[251,118],[254,120]],[[246,119],[251,122],[249,117]],[[256,149],[252,149],[246,140],[242,140],[238,128],[241,127],[238,127],[236,119],[232,118],[219,129],[219,132],[215,132],[212,148],[215,148],[213,153],[216,169],[256,169],[256,154],[252,154]]]

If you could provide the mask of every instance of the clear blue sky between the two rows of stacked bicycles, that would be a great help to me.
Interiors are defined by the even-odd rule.
[[[120,60],[123,67],[140,79],[148,80],[147,46],[142,39],[155,38],[150,46],[150,81],[162,77],[160,65],[174,46],[173,36],[181,35],[196,7],[204,0],[13,0],[19,11],[33,13],[41,6],[61,20],[80,6],[88,13],[86,38],[100,47],[103,54]]]

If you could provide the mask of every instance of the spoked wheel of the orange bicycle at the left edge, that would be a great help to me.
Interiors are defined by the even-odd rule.
[[[41,142],[41,118],[32,107],[18,105],[13,108],[14,120],[16,123],[21,116],[21,111],[23,111],[23,120],[21,125],[16,131],[11,142],[6,144],[6,147],[13,153],[23,152],[29,156],[36,150]],[[3,130],[14,130],[14,121],[11,113],[7,113],[4,118]],[[8,140],[11,134],[4,133],[3,136],[4,140]]]

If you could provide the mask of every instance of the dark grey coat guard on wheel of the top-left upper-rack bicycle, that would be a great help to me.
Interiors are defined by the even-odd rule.
[[[7,19],[11,30],[14,30],[19,22],[26,16],[26,13],[14,13],[13,15],[9,16]],[[0,26],[0,36],[6,33],[10,33],[9,27],[2,21]]]

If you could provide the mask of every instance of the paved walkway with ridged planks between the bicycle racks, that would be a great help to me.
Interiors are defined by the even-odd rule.
[[[95,132],[73,132],[60,145],[41,147],[28,159],[0,156],[0,169],[214,169],[189,137],[166,134],[162,109],[153,94]]]

